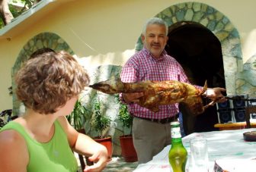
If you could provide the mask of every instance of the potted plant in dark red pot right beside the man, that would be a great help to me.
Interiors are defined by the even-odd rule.
[[[127,105],[120,102],[119,95],[117,95],[117,102],[120,104],[118,120],[123,124],[123,136],[120,136],[122,156],[126,162],[135,162],[138,161],[138,157],[133,145],[133,116],[130,115]],[[129,129],[130,133],[126,134],[126,129]]]

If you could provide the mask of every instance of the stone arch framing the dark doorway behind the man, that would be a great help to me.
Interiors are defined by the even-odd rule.
[[[235,95],[235,73],[239,72],[238,66],[242,66],[242,46],[238,30],[228,17],[210,5],[200,2],[171,5],[156,14],[155,17],[165,20],[169,27],[181,21],[193,21],[210,30],[221,43],[227,92]],[[139,36],[135,49],[139,51],[142,47],[142,40]]]

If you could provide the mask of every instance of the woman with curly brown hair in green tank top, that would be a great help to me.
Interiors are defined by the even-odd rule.
[[[107,149],[66,120],[88,82],[83,67],[66,52],[27,61],[16,75],[16,94],[26,111],[0,130],[0,171],[77,171],[72,151],[94,161],[84,171],[105,167]]]

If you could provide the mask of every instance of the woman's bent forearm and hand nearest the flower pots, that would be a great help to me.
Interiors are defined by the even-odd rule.
[[[89,156],[94,165],[85,167],[85,171],[101,171],[107,164],[107,149],[104,145],[95,142],[91,137],[78,133],[66,120],[66,117],[58,118],[66,131],[70,147],[81,155]]]

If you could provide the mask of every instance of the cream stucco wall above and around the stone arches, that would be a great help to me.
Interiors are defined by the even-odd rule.
[[[61,0],[59,0],[61,1]],[[0,111],[12,108],[8,87],[11,86],[11,67],[28,39],[38,33],[52,32],[62,37],[85,65],[122,65],[133,55],[143,23],[165,8],[181,0],[75,0],[54,10],[43,9],[24,22],[11,36],[0,39]],[[254,0],[202,0],[232,21],[242,38],[244,61],[256,52],[256,16]]]

